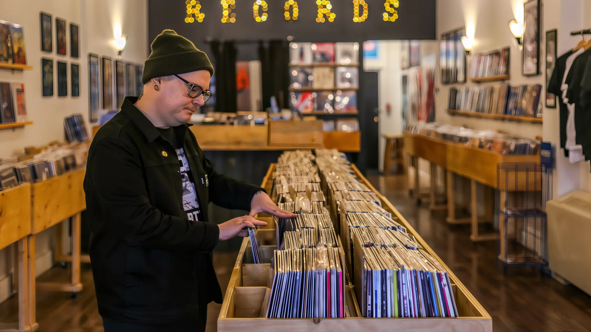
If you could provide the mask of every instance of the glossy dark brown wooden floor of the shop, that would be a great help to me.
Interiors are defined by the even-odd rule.
[[[495,242],[473,243],[467,226],[450,227],[444,213],[431,214],[408,197],[397,177],[369,176],[428,245],[446,262],[493,317],[494,331],[591,331],[591,297],[572,285],[563,286],[532,268],[499,264]],[[225,291],[237,252],[214,253],[217,276]],[[69,269],[56,267],[39,281],[69,278]],[[85,285],[77,298],[59,292],[37,293],[37,320],[41,332],[103,331],[96,307],[89,265],[83,265]],[[16,297],[0,304],[0,321],[15,321]],[[216,331],[220,305],[210,304],[207,330]]]

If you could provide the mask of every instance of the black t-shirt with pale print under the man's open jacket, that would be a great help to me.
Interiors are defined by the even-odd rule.
[[[178,142],[174,134],[174,128],[158,128],[164,139],[166,139],[177,153],[180,166],[181,181],[183,182],[183,209],[187,213],[187,219],[194,221],[204,221],[202,209],[199,206],[199,197],[191,175],[191,169],[187,156],[182,145]]]

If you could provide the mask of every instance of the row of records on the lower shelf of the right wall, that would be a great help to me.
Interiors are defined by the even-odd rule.
[[[542,86],[468,86],[452,88],[448,109],[485,114],[540,117]]]

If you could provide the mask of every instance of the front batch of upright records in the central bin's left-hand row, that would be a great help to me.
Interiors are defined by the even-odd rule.
[[[345,317],[345,273],[338,248],[275,250],[267,318]]]

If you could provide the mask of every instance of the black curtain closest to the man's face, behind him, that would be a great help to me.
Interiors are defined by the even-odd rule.
[[[236,106],[236,56],[233,41],[210,43],[215,61],[216,112],[235,113]]]

